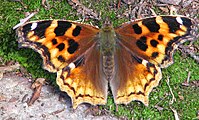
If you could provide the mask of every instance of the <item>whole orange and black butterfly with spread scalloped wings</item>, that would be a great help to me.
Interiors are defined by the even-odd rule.
[[[41,20],[17,29],[19,47],[41,54],[43,68],[57,73],[56,83],[72,99],[104,105],[110,86],[115,104],[133,100],[149,104],[149,94],[173,63],[179,44],[192,35],[185,16],[137,19],[114,28],[68,21]]]

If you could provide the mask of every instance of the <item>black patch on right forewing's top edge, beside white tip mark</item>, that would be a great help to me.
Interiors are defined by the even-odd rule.
[[[175,33],[180,29],[180,24],[177,22],[176,17],[163,16],[162,20],[169,26],[169,32]]]

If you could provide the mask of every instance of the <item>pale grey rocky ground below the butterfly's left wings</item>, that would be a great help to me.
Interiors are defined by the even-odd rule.
[[[87,105],[71,108],[70,98],[58,90],[44,85],[41,94],[31,106],[28,101],[34,90],[26,77],[15,73],[4,73],[0,80],[0,120],[114,120],[112,116],[93,116],[88,114]],[[61,97],[60,97],[61,96]]]

